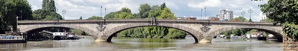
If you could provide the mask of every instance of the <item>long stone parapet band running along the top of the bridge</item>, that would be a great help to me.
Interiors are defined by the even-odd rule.
[[[96,22],[150,22],[151,19],[81,19],[81,20],[25,20],[19,24],[38,23],[96,23]],[[258,24],[273,25],[275,22],[246,22],[246,21],[219,21],[219,20],[189,20],[189,19],[156,19],[156,22],[187,22],[187,23],[222,23],[222,24]],[[280,23],[276,24],[280,25]]]

